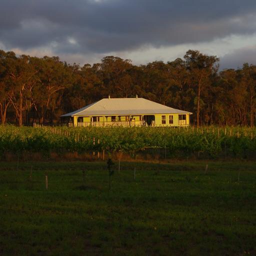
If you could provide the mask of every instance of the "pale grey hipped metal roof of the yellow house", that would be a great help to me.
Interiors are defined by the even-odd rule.
[[[126,114],[191,113],[168,107],[145,98],[103,98],[76,111],[61,115],[126,115]]]

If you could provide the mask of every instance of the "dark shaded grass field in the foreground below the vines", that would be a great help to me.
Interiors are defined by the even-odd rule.
[[[0,255],[255,255],[256,162],[207,163],[0,162]]]

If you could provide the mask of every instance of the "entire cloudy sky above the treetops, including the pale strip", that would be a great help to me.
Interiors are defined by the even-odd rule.
[[[255,0],[1,0],[0,49],[96,63],[172,61],[188,49],[220,69],[256,64]]]

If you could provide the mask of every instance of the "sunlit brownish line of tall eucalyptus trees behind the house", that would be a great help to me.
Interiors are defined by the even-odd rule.
[[[197,125],[255,124],[256,66],[218,70],[216,56],[188,50],[164,63],[133,65],[104,57],[80,66],[58,57],[16,56],[0,50],[0,120],[55,123],[65,112],[103,97],[144,97],[193,112]]]

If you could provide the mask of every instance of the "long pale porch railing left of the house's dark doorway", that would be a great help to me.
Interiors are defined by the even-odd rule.
[[[146,121],[108,121],[108,122],[77,122],[78,127],[87,127],[87,126],[96,126],[96,127],[105,127],[105,126],[145,126]]]

